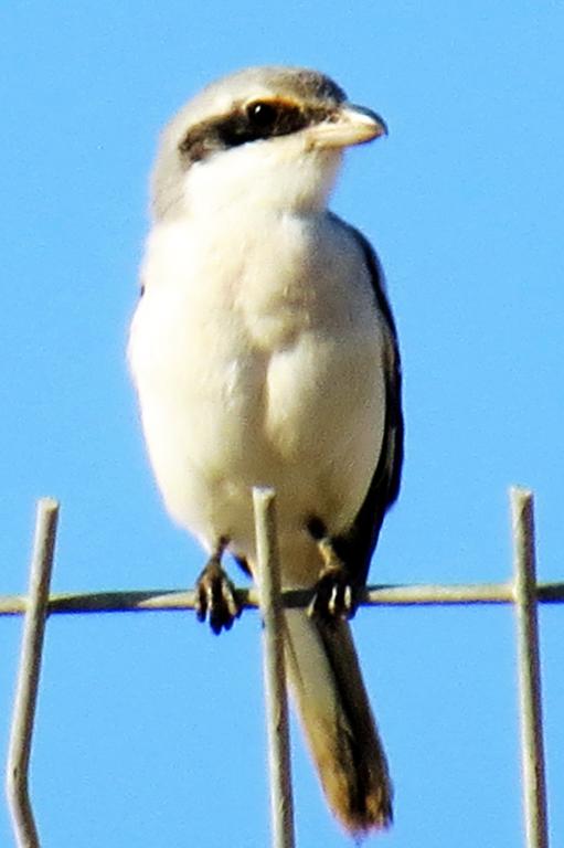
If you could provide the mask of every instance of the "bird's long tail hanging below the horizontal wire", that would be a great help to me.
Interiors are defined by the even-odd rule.
[[[327,799],[355,836],[392,822],[392,784],[349,625],[286,612],[290,688]]]

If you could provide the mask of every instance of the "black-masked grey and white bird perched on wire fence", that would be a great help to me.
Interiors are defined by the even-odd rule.
[[[329,807],[363,837],[393,787],[349,618],[396,500],[397,332],[366,237],[329,209],[344,150],[387,134],[315,70],[257,66],[195,94],[162,131],[128,360],[170,516],[202,545],[196,613],[241,613],[258,580],[252,488],[277,499],[294,703]],[[374,202],[374,198],[371,198]]]

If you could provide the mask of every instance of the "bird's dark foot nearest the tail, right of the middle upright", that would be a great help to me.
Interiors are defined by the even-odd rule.
[[[354,590],[347,566],[338,556],[328,537],[318,541],[324,568],[308,606],[308,615],[326,624],[352,618],[357,605]]]

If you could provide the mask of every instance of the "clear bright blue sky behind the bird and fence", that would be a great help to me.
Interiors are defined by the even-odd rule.
[[[190,586],[202,566],[152,481],[124,350],[158,130],[263,63],[323,70],[390,126],[333,200],[380,252],[404,360],[404,486],[372,582],[504,580],[512,483],[536,494],[540,577],[562,580],[563,28],[554,0],[2,4],[0,594],[24,591],[41,495],[62,500],[57,591]],[[554,845],[562,616],[541,612]],[[2,751],[20,626],[0,619]],[[521,845],[511,611],[361,611],[354,630],[396,787],[381,844]],[[254,613],[221,638],[191,613],[54,617],[44,848],[266,845],[262,699]],[[294,731],[298,845],[347,845]]]

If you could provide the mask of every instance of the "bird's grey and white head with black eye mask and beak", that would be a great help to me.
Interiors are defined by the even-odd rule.
[[[252,67],[190,100],[164,129],[152,178],[157,219],[214,214],[244,202],[277,211],[324,206],[342,151],[386,132],[332,80]]]

